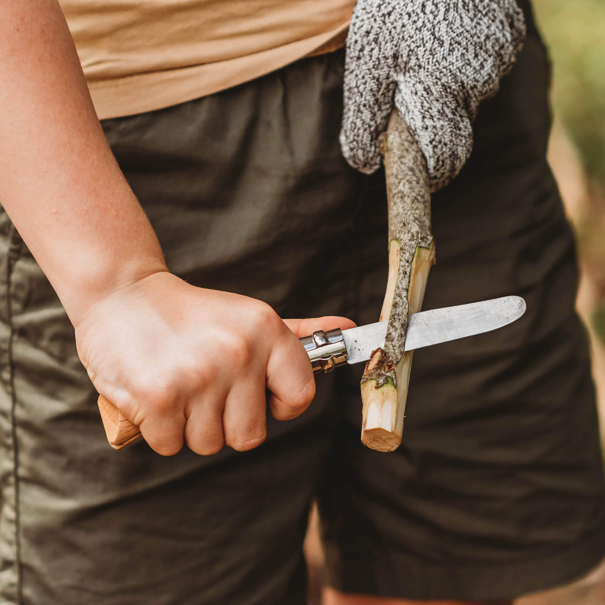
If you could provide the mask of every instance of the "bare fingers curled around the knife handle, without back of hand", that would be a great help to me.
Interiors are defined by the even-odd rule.
[[[306,410],[315,395],[315,379],[299,336],[337,327],[346,330],[355,323],[341,316],[325,316],[283,322],[276,318],[275,325],[275,344],[268,361],[261,356],[257,367],[240,368],[232,381],[189,391],[192,399],[186,405],[164,401],[155,391],[146,393],[146,416],[134,420],[140,420],[141,433],[153,450],[170,456],[183,442],[203,456],[217,453],[223,445],[237,451],[255,448],[267,434],[266,388],[271,391],[269,405],[276,419],[288,420]]]

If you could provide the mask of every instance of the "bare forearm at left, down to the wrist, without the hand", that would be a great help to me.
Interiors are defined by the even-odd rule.
[[[56,0],[0,5],[0,201],[71,320],[165,270],[105,140]]]

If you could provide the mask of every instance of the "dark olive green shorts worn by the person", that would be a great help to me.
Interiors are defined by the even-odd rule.
[[[384,175],[342,159],[342,52],[204,99],[106,120],[191,284],[284,317],[378,319]],[[317,378],[266,442],[174,457],[111,450],[53,289],[0,214],[0,594],[28,605],[299,605],[317,497],[327,580],[415,599],[505,599],[605,555],[605,490],[574,241],[545,152],[545,51],[530,28],[483,103],[474,152],[433,197],[425,309],[508,294],[506,329],[419,350],[403,442],[361,445],[359,376]]]

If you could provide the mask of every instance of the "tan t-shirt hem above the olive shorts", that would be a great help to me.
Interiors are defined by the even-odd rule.
[[[355,0],[60,0],[100,119],[157,110],[342,45]],[[332,48],[330,48],[332,47]]]

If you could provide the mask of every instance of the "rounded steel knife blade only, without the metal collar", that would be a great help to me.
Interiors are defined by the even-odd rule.
[[[525,313],[525,301],[520,296],[503,296],[489,301],[471,302],[455,307],[431,309],[410,315],[405,350],[428,347],[510,324]],[[362,325],[343,330],[350,364],[370,359],[372,351],[384,347],[387,322]]]

